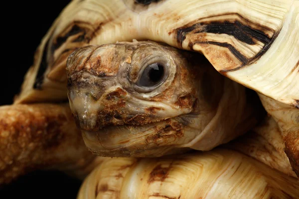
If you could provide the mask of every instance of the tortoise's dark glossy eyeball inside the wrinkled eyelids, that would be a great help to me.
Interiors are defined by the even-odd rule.
[[[164,76],[163,64],[153,63],[144,69],[137,85],[140,87],[153,87],[158,85],[164,79]]]

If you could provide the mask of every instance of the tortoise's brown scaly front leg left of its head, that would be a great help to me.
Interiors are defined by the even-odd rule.
[[[0,184],[42,168],[84,177],[99,161],[86,149],[68,104],[0,106]]]

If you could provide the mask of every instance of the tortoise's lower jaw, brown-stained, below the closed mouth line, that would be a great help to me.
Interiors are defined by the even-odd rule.
[[[184,152],[190,149],[179,145],[195,137],[179,122],[178,116],[145,125],[109,125],[97,131],[82,130],[82,134],[90,151],[109,157],[157,157]]]

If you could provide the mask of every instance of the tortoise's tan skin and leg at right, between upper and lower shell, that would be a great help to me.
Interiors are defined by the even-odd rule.
[[[299,110],[259,95],[268,112],[257,127],[226,147],[299,177]],[[291,164],[290,164],[291,163]]]

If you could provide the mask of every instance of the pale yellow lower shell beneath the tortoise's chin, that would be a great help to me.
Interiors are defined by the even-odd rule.
[[[107,158],[78,199],[296,199],[299,182],[241,153],[218,149],[156,159]]]

